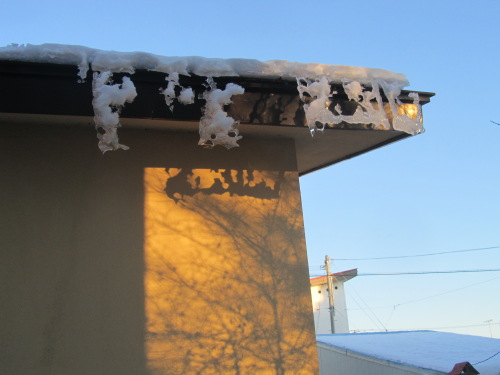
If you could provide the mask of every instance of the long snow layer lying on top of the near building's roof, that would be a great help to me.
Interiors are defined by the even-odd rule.
[[[199,76],[241,76],[253,78],[296,77],[316,79],[328,77],[332,82],[356,80],[370,84],[373,80],[384,80],[408,86],[404,74],[383,69],[371,69],[344,65],[302,64],[283,60],[261,62],[251,59],[214,59],[199,56],[166,57],[144,52],[115,52],[62,44],[18,45],[0,47],[0,60],[28,61],[51,64],[77,65],[80,77],[87,75],[90,67],[94,71],[133,73],[136,69],[163,73],[179,73]]]

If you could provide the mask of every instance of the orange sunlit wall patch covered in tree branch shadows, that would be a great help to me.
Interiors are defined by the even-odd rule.
[[[154,375],[317,373],[298,176],[145,170]]]

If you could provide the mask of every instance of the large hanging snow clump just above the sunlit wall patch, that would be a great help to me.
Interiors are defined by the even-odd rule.
[[[208,90],[202,96],[207,102],[200,120],[198,144],[206,147],[238,147],[237,141],[242,137],[238,135],[237,122],[224,112],[224,106],[231,104],[233,95],[241,95],[245,90],[234,83],[228,83],[224,90],[218,89],[211,77],[207,79],[207,86]]]

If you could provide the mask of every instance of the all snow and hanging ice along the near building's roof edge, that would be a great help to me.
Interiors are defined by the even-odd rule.
[[[83,46],[60,44],[10,45],[0,48],[0,60],[16,60],[78,66],[81,80],[91,68],[97,75],[93,79],[94,111],[99,133],[99,147],[103,151],[126,148],[120,145],[116,134],[119,109],[137,95],[129,77],[121,84],[110,84],[113,73],[134,74],[136,69],[162,72],[167,75],[167,87],[160,89],[166,105],[173,110],[174,100],[181,104],[193,103],[195,93],[179,84],[179,75],[196,74],[205,77],[243,76],[254,78],[281,78],[297,80],[300,98],[304,101],[307,124],[314,134],[326,125],[341,122],[373,124],[376,128],[401,130],[409,134],[423,131],[418,94],[411,94],[417,113],[407,113],[398,96],[409,82],[403,74],[382,69],[369,69],[342,65],[301,64],[282,60],[260,62],[248,59],[212,59],[198,56],[164,57],[143,52],[101,51]],[[332,84],[342,84],[357,110],[343,114],[339,106],[330,108],[334,94]],[[386,109],[381,91],[389,101]],[[223,106],[231,102],[232,95],[242,94],[238,85],[217,89],[213,82],[201,94],[207,102],[200,120],[200,144],[221,144],[228,148],[237,146],[241,138],[235,121],[227,117]],[[412,106],[410,112],[414,112]],[[386,111],[389,113],[386,113]],[[390,117],[390,119],[389,119]]]

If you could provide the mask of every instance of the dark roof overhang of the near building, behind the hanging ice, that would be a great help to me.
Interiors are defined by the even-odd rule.
[[[78,82],[78,69],[71,65],[0,61],[0,122],[50,122],[66,125],[93,125],[92,72],[87,80]],[[120,81],[120,76],[113,77]],[[311,132],[306,125],[297,82],[282,79],[218,77],[218,87],[235,83],[245,88],[234,96],[226,111],[240,122],[243,137],[287,138],[296,145],[300,175],[363,154],[409,136],[403,131],[379,130],[366,124],[340,123]],[[206,77],[181,76],[180,83],[204,90]],[[205,101],[176,104],[171,112],[160,95],[166,87],[165,74],[138,70],[133,75],[137,90],[134,102],[120,113],[124,128],[161,129],[176,132],[198,132]],[[349,104],[342,86],[335,88],[337,104]],[[401,103],[413,103],[403,91]],[[434,94],[419,92],[420,104],[429,102]],[[384,100],[387,100],[384,98]]]

